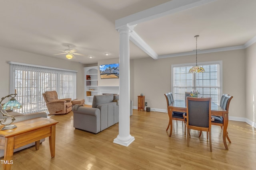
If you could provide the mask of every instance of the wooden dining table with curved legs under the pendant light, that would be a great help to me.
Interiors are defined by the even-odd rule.
[[[173,111],[180,111],[180,112],[186,112],[187,111],[187,105],[185,100],[174,100],[170,106],[168,106],[168,116],[169,116],[169,124],[168,127],[171,126],[170,129],[172,129],[172,112]],[[226,133],[228,128],[228,111],[222,107],[220,107],[218,104],[211,102],[211,115],[214,116],[222,116],[223,117],[223,128],[222,128],[222,138],[225,148],[228,150],[228,145],[226,142]],[[172,131],[170,131],[169,137],[172,135]]]

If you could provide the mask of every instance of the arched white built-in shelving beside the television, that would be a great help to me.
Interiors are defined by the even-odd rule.
[[[97,66],[85,67],[85,104],[92,105],[94,95],[98,94],[98,69]]]

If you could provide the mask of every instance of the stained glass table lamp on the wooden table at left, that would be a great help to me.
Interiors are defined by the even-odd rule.
[[[20,109],[22,107],[22,105],[15,99],[16,97],[16,90],[15,90],[15,94],[9,94],[8,96],[5,96],[1,99],[0,102],[0,111],[2,113],[2,119],[0,119],[0,124],[4,125],[4,127],[2,128],[2,130],[10,130],[10,129],[14,129],[17,126],[12,124],[15,121],[14,116],[12,115],[8,115],[6,109]],[[11,99],[9,100],[9,102],[7,102],[6,104],[4,104],[3,106],[1,105],[2,101],[5,98],[11,97]],[[11,120],[8,120],[8,117],[11,118]]]

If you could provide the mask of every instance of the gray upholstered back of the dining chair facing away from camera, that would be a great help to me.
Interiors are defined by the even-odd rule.
[[[197,127],[209,127],[211,122],[210,105],[211,98],[187,97],[188,124]]]

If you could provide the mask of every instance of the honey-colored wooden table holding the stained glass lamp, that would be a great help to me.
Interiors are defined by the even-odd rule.
[[[10,170],[13,150],[29,143],[35,142],[39,149],[40,139],[49,137],[50,152],[55,156],[55,127],[58,121],[39,117],[14,123],[17,128],[0,130],[0,149],[4,149],[4,170]],[[0,126],[2,129],[3,126]],[[14,162],[13,162],[14,163]]]

